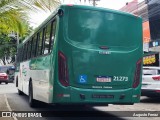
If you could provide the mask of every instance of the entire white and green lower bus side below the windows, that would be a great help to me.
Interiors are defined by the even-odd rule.
[[[20,63],[18,77],[18,89],[29,95],[29,81],[33,85],[33,98],[46,103],[51,103],[50,95],[50,56],[43,56]],[[15,78],[16,79],[16,78]]]

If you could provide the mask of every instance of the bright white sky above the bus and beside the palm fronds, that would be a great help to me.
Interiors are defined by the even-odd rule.
[[[80,4],[80,0],[61,0],[64,4]],[[81,0],[81,4],[84,4],[84,0]],[[87,1],[87,0],[86,0]],[[104,8],[110,8],[110,9],[120,9],[127,2],[131,2],[133,0],[100,0],[97,2],[98,7],[104,7]],[[138,2],[142,2],[144,0],[138,0]],[[89,2],[85,3],[87,5],[90,5]],[[40,23],[42,23],[51,13],[50,12],[44,12],[40,11],[38,13],[31,13],[30,14],[30,23],[31,26],[34,28],[37,27]]]

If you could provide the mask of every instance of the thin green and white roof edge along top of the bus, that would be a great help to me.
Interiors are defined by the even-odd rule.
[[[49,22],[51,20],[51,18],[53,18],[59,9],[63,9],[63,8],[67,8],[67,7],[72,7],[72,8],[79,8],[79,9],[88,9],[88,10],[93,10],[93,11],[104,11],[104,12],[111,12],[114,14],[120,14],[120,15],[127,15],[130,17],[135,17],[135,15],[127,13],[127,12],[122,12],[119,10],[113,10],[113,9],[108,9],[108,8],[102,8],[102,7],[94,7],[94,6],[85,6],[85,5],[71,5],[71,4],[66,4],[66,5],[60,5],[54,12],[51,13],[51,15],[46,18],[28,37],[25,38],[25,40],[18,45],[18,47],[20,47],[22,44],[24,44],[25,42],[28,41],[28,39],[30,39],[34,34],[36,34],[47,22]],[[138,17],[138,16],[136,16]],[[140,17],[138,17],[140,18]]]

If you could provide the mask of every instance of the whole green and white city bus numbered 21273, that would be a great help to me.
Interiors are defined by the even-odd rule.
[[[140,17],[62,5],[18,46],[15,83],[30,106],[134,104],[142,54]]]

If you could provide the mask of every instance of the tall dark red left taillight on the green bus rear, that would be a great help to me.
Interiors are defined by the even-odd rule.
[[[68,67],[66,57],[62,52],[58,52],[58,76],[60,83],[67,87],[69,86]]]

